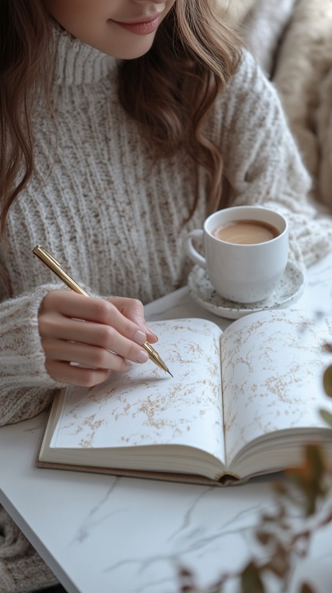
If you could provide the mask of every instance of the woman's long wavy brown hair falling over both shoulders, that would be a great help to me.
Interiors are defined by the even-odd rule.
[[[237,32],[215,3],[176,0],[151,50],[122,62],[119,73],[120,101],[141,122],[158,155],[182,146],[208,172],[209,210],[225,206],[223,161],[219,149],[205,136],[204,123],[241,59]],[[41,100],[50,105],[53,47],[52,21],[42,0],[1,0],[0,16],[0,230],[4,237],[8,210],[34,172],[31,113]]]

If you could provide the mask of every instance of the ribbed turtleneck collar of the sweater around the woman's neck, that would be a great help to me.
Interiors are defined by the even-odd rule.
[[[55,84],[91,84],[117,71],[120,60],[76,39],[57,23],[54,26],[54,39]]]

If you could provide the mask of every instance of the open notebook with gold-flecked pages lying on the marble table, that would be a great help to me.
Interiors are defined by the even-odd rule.
[[[332,321],[303,311],[252,313],[224,332],[213,322],[155,322],[153,363],[55,399],[37,464],[188,482],[282,470],[332,432],[322,386]]]

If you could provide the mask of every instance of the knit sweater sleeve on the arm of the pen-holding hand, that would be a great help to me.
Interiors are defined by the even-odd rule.
[[[63,387],[46,372],[37,324],[42,299],[56,288],[39,286],[0,303],[0,426],[33,417]]]

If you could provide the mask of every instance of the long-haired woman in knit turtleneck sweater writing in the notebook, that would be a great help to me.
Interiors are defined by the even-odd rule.
[[[208,212],[280,210],[306,264],[329,249],[331,222],[315,221],[275,90],[213,0],[1,6],[5,424],[37,414],[67,383],[145,362],[141,345],[157,338],[136,298],[185,283],[181,242]],[[38,243],[95,298],[55,282],[31,254]],[[55,582],[15,529],[1,511],[0,592]],[[21,542],[12,553],[8,533]]]

